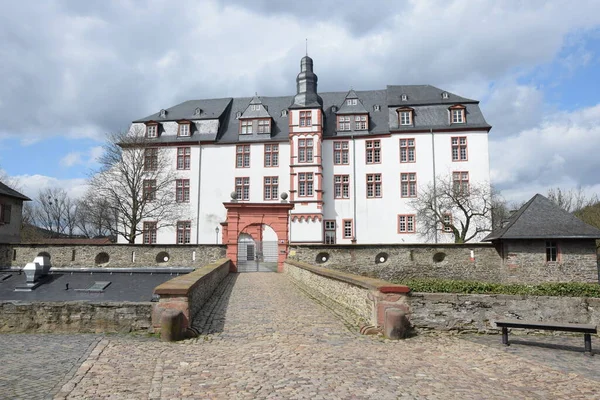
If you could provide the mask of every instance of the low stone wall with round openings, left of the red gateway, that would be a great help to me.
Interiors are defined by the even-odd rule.
[[[224,245],[16,244],[0,247],[0,268],[23,267],[42,252],[50,254],[53,267],[198,268],[225,257],[225,251]]]

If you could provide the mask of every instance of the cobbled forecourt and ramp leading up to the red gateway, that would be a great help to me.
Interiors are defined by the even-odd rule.
[[[600,398],[600,353],[584,356],[581,337],[359,336],[282,274],[231,275],[197,328],[179,343],[0,336],[0,398]]]

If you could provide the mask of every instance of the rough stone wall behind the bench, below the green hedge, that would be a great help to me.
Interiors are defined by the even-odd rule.
[[[600,325],[600,298],[411,293],[410,307],[417,330],[498,332],[499,319]]]

